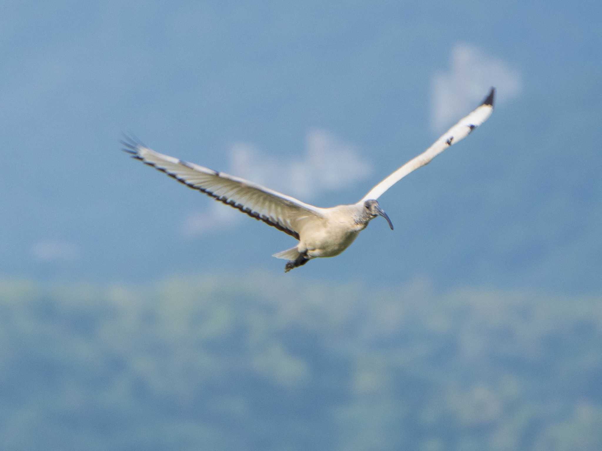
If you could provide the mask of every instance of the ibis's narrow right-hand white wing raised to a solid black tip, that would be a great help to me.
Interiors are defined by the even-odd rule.
[[[378,185],[374,186],[374,188],[372,188],[370,192],[368,192],[368,194],[362,198],[361,202],[368,199],[379,198],[383,192],[391,188],[391,186],[395,185],[397,182],[399,182],[399,180],[403,179],[403,177],[407,176],[412,171],[429,164],[433,158],[439,155],[439,153],[443,152],[453,144],[458,143],[458,141],[466,138],[470,132],[485,122],[493,112],[494,95],[495,88],[491,88],[489,95],[485,98],[485,100],[483,100],[483,103],[474,109],[473,112],[467,115],[467,117],[462,118],[455,126],[447,130],[444,135],[442,135],[438,140],[435,141],[435,143],[433,143],[432,146],[429,147],[429,149],[412,158],[393,174],[386,177],[386,179],[384,179]]]

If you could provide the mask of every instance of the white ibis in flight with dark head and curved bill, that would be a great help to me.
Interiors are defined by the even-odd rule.
[[[476,109],[447,130],[427,150],[370,189],[358,202],[330,208],[315,207],[240,177],[163,155],[132,138],[126,138],[121,143],[125,146],[123,150],[130,153],[132,158],[299,240],[295,247],[273,255],[288,260],[284,266],[284,271],[288,272],[317,257],[337,256],[352,244],[359,232],[376,216],[385,218],[393,230],[391,219],[377,199],[403,177],[428,164],[485,122],[493,111],[494,95],[495,88],[491,88]]]

